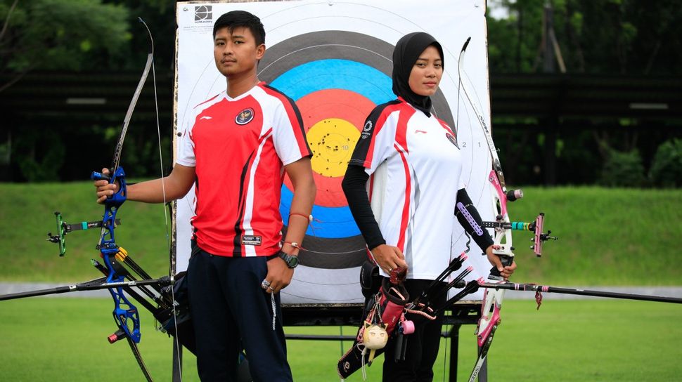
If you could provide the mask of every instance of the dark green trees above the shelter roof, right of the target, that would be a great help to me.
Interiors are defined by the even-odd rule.
[[[501,0],[509,17],[488,20],[491,72],[541,70],[543,12],[570,73],[682,74],[682,8],[675,0]]]

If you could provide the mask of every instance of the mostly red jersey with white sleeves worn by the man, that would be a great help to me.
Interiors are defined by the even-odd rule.
[[[293,100],[259,83],[194,108],[176,163],[196,169],[194,237],[219,256],[269,256],[280,249],[284,166],[311,154]]]

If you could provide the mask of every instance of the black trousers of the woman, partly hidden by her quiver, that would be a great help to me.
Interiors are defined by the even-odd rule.
[[[408,279],[404,285],[410,299],[419,296],[431,284],[432,280]],[[446,294],[433,301],[435,306],[442,306],[446,302]],[[405,336],[407,339],[404,361],[395,360],[396,337],[391,336],[386,344],[384,353],[384,368],[382,381],[384,382],[426,382],[433,380],[433,364],[438,356],[440,334],[443,327],[442,317],[430,321],[407,314],[407,320],[414,320],[414,333]]]

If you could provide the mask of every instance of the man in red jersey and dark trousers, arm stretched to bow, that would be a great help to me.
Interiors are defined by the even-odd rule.
[[[233,381],[241,349],[254,381],[292,381],[278,292],[292,279],[315,198],[311,152],[295,103],[257,78],[259,18],[225,13],[213,38],[226,91],[194,108],[170,175],[130,185],[127,199],[165,202],[195,185],[187,281],[202,381]],[[286,237],[284,173],[294,188]],[[95,185],[100,203],[117,190]]]

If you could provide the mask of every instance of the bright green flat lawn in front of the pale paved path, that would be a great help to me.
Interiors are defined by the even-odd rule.
[[[125,343],[110,345],[111,301],[29,298],[0,309],[0,381],[143,381]],[[680,381],[680,305],[640,301],[506,301],[489,354],[490,381]],[[143,313],[140,350],[155,381],[170,381],[172,340]],[[475,362],[474,327],[460,331],[458,381]],[[289,327],[290,333],[339,334],[338,327]],[[343,328],[343,334],[355,329]],[[288,341],[297,382],[338,381],[335,364],[350,343]],[[435,381],[450,345],[442,341]],[[185,352],[184,381],[198,381]],[[378,362],[382,362],[380,358]],[[380,381],[381,364],[367,381]],[[447,379],[446,379],[447,380]],[[362,381],[358,371],[347,381]]]

